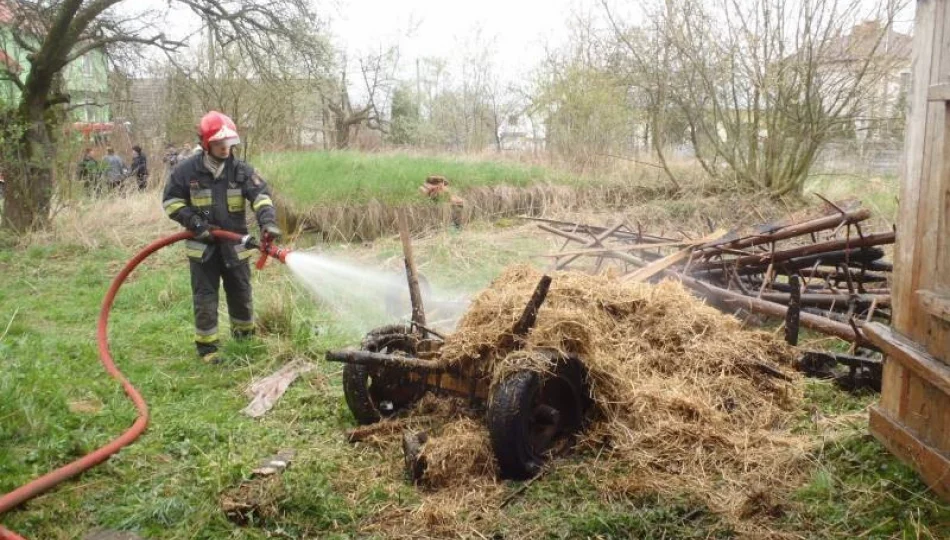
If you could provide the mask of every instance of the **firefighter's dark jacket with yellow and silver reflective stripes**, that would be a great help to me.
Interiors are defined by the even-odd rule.
[[[162,197],[162,206],[168,217],[187,228],[192,217],[201,214],[213,227],[247,234],[244,210],[249,202],[261,226],[277,221],[270,190],[250,165],[232,156],[225,162],[224,172],[215,179],[205,167],[203,157],[204,154],[199,152],[172,171]],[[229,268],[253,255],[252,251],[235,243],[206,244],[188,240],[185,246],[188,257],[200,261],[209,260],[215,249],[221,249]]]

